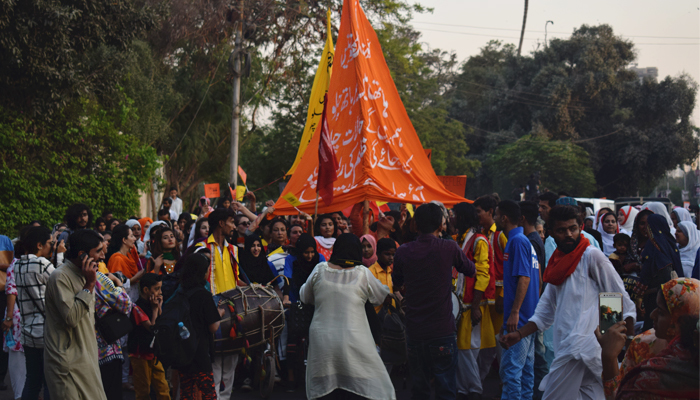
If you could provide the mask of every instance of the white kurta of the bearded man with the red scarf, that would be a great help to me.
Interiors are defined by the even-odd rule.
[[[601,292],[622,293],[623,319],[636,318],[637,310],[620,275],[605,254],[593,246],[586,249],[576,271],[564,283],[545,288],[535,315],[530,318],[540,331],[550,326],[554,329],[554,361],[540,387],[558,385],[548,380],[560,376],[557,369],[571,360],[581,361],[596,377],[602,375],[601,349],[594,333],[598,326],[598,293]],[[602,380],[600,386],[602,388]]]

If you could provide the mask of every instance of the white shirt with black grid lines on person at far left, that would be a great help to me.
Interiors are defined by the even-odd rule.
[[[23,346],[44,347],[46,284],[54,269],[49,260],[34,254],[23,255],[15,263],[17,303],[22,315]]]

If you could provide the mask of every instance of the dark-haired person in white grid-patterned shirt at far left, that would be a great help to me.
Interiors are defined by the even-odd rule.
[[[51,233],[45,227],[33,227],[21,235],[19,260],[15,263],[17,303],[22,319],[22,347],[27,377],[23,399],[39,398],[42,386],[44,399],[49,399],[44,378],[44,320],[46,284],[54,271],[48,260],[51,254]]]

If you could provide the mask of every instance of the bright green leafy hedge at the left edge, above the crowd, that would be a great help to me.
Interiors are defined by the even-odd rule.
[[[121,218],[138,210],[138,191],[150,182],[157,156],[120,131],[134,110],[123,103],[108,113],[89,101],[76,108],[77,121],[57,115],[41,124],[0,109],[0,233],[14,235],[35,219],[60,222],[75,202]]]

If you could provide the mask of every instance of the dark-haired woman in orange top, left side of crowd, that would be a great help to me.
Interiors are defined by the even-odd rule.
[[[153,229],[153,224],[151,228]],[[107,248],[107,269],[109,272],[121,272],[129,279],[133,288],[138,288],[139,279],[144,274],[139,262],[139,255],[136,253],[136,237],[134,232],[126,225],[117,225],[112,232],[112,239]],[[134,293],[138,296],[138,289]],[[135,298],[135,297],[132,297]]]

